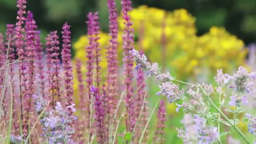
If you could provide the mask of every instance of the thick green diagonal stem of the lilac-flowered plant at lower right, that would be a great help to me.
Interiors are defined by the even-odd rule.
[[[206,95],[205,95],[206,96]],[[213,106],[214,109],[216,109],[222,117],[224,117],[225,120],[239,133],[240,136],[246,141],[247,144],[250,144],[248,139],[246,139],[245,135],[243,134],[242,131],[240,131],[239,128],[235,127],[234,124],[229,120],[229,118],[213,103],[213,101],[210,99],[209,96],[206,96],[206,99],[210,102],[210,104]]]

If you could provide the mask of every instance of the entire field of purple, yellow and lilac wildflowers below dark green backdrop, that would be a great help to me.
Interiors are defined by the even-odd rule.
[[[186,9],[105,0],[46,37],[27,0],[0,33],[0,144],[256,144],[255,48]],[[253,46],[251,46],[253,47]]]

